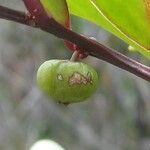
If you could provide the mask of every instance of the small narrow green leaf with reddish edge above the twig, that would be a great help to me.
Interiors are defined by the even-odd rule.
[[[65,27],[69,27],[70,19],[66,0],[40,0],[40,2],[50,17]]]

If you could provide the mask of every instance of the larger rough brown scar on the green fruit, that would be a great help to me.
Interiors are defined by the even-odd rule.
[[[74,72],[72,74],[72,76],[70,76],[69,78],[69,85],[80,85],[80,84],[92,84],[92,76],[90,74],[90,72],[87,73],[87,75],[82,75],[81,73],[79,72]]]

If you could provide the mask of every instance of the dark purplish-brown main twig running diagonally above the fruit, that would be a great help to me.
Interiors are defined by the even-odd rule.
[[[12,20],[21,24],[32,26],[27,19],[25,13],[20,11],[15,11],[3,6],[0,6],[0,18]],[[114,51],[96,41],[93,41],[89,38],[83,37],[78,33],[75,33],[71,30],[66,29],[54,19],[49,19],[49,24],[46,26],[36,25],[34,27],[39,27],[42,30],[54,34],[55,36],[71,41],[77,46],[83,48],[90,55],[95,56],[99,59],[107,61],[119,68],[122,68],[126,71],[129,71],[136,76],[139,76],[147,81],[150,81],[150,67],[145,66],[135,60]]]

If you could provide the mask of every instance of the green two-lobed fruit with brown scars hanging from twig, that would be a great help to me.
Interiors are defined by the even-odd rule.
[[[84,101],[96,91],[98,83],[97,72],[82,62],[49,60],[37,72],[39,87],[64,104]]]

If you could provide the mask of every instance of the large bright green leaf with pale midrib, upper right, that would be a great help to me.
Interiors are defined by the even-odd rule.
[[[67,0],[69,11],[118,36],[150,59],[150,0]]]

